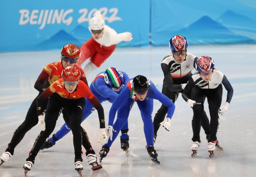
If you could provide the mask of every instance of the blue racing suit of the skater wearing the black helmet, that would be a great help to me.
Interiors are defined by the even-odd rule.
[[[170,119],[175,110],[174,103],[162,94],[150,81],[150,88],[148,89],[148,93],[143,101],[140,101],[134,91],[131,89],[132,80],[126,84],[126,86],[122,89],[122,92],[118,95],[118,97],[113,102],[110,112],[109,112],[109,120],[108,125],[113,126],[113,137],[112,140],[108,139],[108,143],[105,146],[111,147],[113,141],[116,139],[117,135],[121,128],[125,125],[128,120],[128,116],[130,110],[134,104],[134,101],[137,102],[140,114],[144,123],[144,134],[146,137],[146,142],[148,146],[153,146],[153,137],[154,137],[154,126],[152,122],[151,114],[153,112],[153,100],[159,100],[163,105],[168,107],[167,117]],[[116,122],[113,124],[115,115],[117,111]]]

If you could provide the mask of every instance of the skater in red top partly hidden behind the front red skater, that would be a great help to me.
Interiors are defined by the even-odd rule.
[[[43,71],[38,76],[38,79],[35,82],[35,89],[39,91],[39,94],[33,100],[26,114],[26,118],[24,122],[14,131],[12,140],[8,144],[8,148],[6,148],[6,151],[1,155],[0,158],[2,163],[8,161],[13,156],[15,147],[23,139],[26,132],[29,131],[31,128],[33,128],[36,124],[38,124],[38,115],[37,115],[37,106],[36,106],[37,98],[46,90],[47,87],[49,87],[52,83],[54,83],[56,80],[61,78],[61,72],[65,67],[75,66],[76,61],[79,57],[80,57],[79,47],[74,44],[67,44],[63,46],[61,49],[61,57],[60,57],[61,62],[49,63],[47,66],[44,67]],[[84,71],[79,66],[76,66],[76,67],[81,72],[80,80],[83,81],[86,85],[88,85]],[[48,99],[41,104],[42,111],[46,109],[47,103],[48,103]],[[61,111],[62,109],[60,110],[60,113]],[[65,114],[65,111],[63,112],[63,114]]]

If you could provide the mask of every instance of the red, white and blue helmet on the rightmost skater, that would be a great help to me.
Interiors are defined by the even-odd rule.
[[[214,67],[214,61],[211,57],[202,56],[196,60],[194,67],[197,71],[209,71]]]

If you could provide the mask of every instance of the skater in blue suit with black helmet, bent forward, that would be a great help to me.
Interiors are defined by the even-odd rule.
[[[157,90],[154,83],[152,83],[146,77],[138,75],[126,84],[122,92],[118,95],[118,97],[116,97],[116,100],[111,106],[109,112],[109,122],[106,128],[108,143],[102,146],[102,150],[99,152],[101,159],[107,156],[113,141],[116,139],[120,129],[128,120],[130,110],[134,104],[134,101],[136,101],[144,123],[144,133],[148,146],[148,154],[151,158],[153,158],[152,160],[154,162],[159,163],[159,161],[157,161],[157,152],[153,146],[154,126],[151,119],[151,114],[153,111],[154,99],[159,100],[161,103],[168,107],[167,118],[170,120],[174,113],[175,105],[168,97],[161,94],[161,92]],[[116,122],[113,124],[116,111],[117,118]],[[169,121],[166,121],[166,124],[169,123]]]

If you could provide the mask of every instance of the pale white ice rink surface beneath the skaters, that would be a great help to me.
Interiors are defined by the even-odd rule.
[[[227,46],[189,46],[188,52],[198,57],[208,55],[215,61],[216,69],[223,72],[234,89],[227,114],[220,115],[218,140],[224,151],[215,150],[215,157],[209,159],[207,140],[201,131],[201,146],[198,156],[191,158],[192,151],[192,109],[179,96],[171,121],[171,130],[160,127],[154,145],[160,165],[151,161],[145,149],[146,141],[143,122],[137,104],[131,110],[128,122],[130,136],[130,154],[120,148],[120,138],[116,138],[108,156],[102,161],[102,169],[92,171],[84,159],[83,177],[255,177],[256,174],[256,45]],[[96,71],[87,75],[91,83],[101,71],[115,67],[125,71],[129,77],[145,75],[153,83],[158,83],[161,91],[163,72],[160,63],[171,50],[166,47],[119,48]],[[23,122],[26,112],[37,96],[34,84],[42,69],[48,63],[60,61],[60,51],[0,53],[0,154],[7,148],[15,129]],[[194,73],[195,70],[192,71]],[[223,87],[224,89],[224,87]],[[224,105],[227,91],[223,91]],[[111,103],[102,104],[106,125]],[[160,108],[160,102],[154,101],[154,114]],[[204,103],[209,116],[208,103]],[[59,117],[53,133],[63,125]],[[101,144],[99,119],[96,111],[82,124],[99,158]],[[35,138],[39,134],[38,126],[26,133],[16,147],[14,156],[0,166],[0,177],[19,177],[23,175],[23,165],[29,155]],[[52,134],[53,134],[52,133]],[[83,151],[85,151],[83,149]],[[85,153],[84,153],[85,154]],[[74,166],[73,134],[70,132],[55,146],[40,151],[28,177],[76,177]]]

